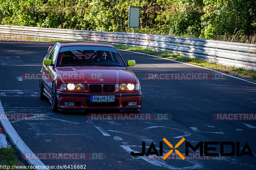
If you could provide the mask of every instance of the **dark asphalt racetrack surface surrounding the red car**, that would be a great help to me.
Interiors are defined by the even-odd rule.
[[[169,120],[88,120],[84,112],[54,113],[48,100],[38,96],[38,80],[22,80],[25,73],[39,73],[53,42],[0,42],[0,99],[5,113],[39,114],[42,120],[10,121],[34,153],[90,153],[88,160],[46,160],[45,165],[86,165],[86,169],[255,169],[256,121],[214,120],[213,114],[256,114],[256,85],[203,68],[148,55],[119,50],[140,79],[140,114],[167,114]],[[207,80],[152,80],[148,74],[207,74]],[[90,113],[106,113],[105,111]],[[112,113],[109,112],[108,113]],[[166,138],[173,146],[182,138],[194,146],[206,141],[247,142],[254,156],[243,155],[200,160],[149,159],[131,156],[146,152],[151,142],[159,152]],[[164,142],[163,142],[164,143]],[[211,145],[220,152],[220,145]],[[236,146],[237,147],[237,146]],[[163,152],[171,148],[163,144]],[[185,153],[185,142],[177,149]],[[153,150],[152,150],[153,151]],[[189,152],[193,152],[189,150]],[[227,147],[226,152],[230,152]],[[93,154],[92,154],[93,153]],[[199,150],[196,151],[199,153]],[[173,153],[174,154],[174,151]],[[100,159],[93,159],[100,156]],[[103,155],[101,159],[101,155]]]

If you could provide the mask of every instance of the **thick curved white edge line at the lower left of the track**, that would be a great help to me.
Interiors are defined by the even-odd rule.
[[[4,114],[4,109],[0,100],[0,113]],[[25,144],[25,142],[20,138],[16,130],[12,127],[12,124],[9,120],[0,120],[4,128],[5,133],[10,137],[11,143],[16,146],[21,154],[23,153],[33,153],[31,149]],[[30,165],[44,166],[44,163],[40,159],[28,159]],[[41,168],[36,169],[41,170]],[[46,170],[49,170],[48,168]]]

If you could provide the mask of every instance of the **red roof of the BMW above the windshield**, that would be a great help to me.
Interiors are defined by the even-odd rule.
[[[108,44],[106,42],[95,42],[95,41],[67,41],[67,42],[59,42],[60,47],[70,47],[70,46],[100,46],[100,47],[111,47],[114,48],[113,45]]]

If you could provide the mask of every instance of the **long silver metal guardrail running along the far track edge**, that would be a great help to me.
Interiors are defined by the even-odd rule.
[[[142,33],[114,33],[7,25],[0,25],[0,36],[111,42],[118,45],[170,51],[190,58],[199,57],[207,62],[256,70],[256,44],[249,43]]]

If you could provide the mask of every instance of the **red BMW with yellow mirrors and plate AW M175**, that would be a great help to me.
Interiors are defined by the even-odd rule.
[[[140,81],[108,43],[57,42],[40,71],[39,96],[52,110],[141,109]]]

